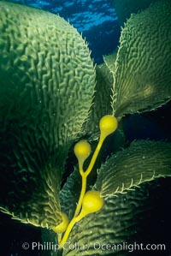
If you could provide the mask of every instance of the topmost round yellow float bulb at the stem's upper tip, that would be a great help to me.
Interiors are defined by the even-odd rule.
[[[107,137],[109,134],[115,132],[118,127],[118,121],[115,116],[106,115],[101,118],[99,127],[101,134]]]

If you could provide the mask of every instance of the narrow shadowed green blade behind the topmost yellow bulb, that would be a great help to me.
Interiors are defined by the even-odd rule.
[[[114,83],[116,51],[103,57],[104,63],[96,66],[96,86],[91,104],[90,114],[83,125],[84,134],[88,140],[97,140],[100,136],[99,121],[105,115],[112,115],[111,95]],[[124,144],[122,128],[113,134],[113,149],[118,149]]]

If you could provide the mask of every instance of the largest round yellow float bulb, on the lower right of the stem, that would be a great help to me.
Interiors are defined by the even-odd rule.
[[[103,207],[103,198],[100,197],[100,192],[90,190],[85,193],[82,201],[82,211],[86,214],[99,211]]]

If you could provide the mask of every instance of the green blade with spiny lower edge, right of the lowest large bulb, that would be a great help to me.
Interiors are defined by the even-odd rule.
[[[165,176],[171,176],[171,144],[139,140],[101,166],[96,187],[108,196]]]

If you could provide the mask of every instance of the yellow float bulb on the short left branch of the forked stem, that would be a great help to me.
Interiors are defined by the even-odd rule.
[[[91,153],[91,146],[86,140],[80,140],[74,146],[74,154],[79,161],[84,162]]]

